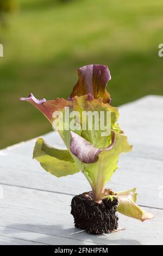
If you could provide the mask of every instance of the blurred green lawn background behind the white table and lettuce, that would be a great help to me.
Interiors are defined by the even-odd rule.
[[[51,131],[19,97],[67,98],[83,65],[109,66],[114,106],[162,95],[162,13],[162,0],[0,0],[0,148]]]

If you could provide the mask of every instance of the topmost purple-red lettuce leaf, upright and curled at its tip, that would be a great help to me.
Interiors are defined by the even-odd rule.
[[[111,80],[110,71],[104,65],[87,65],[78,69],[79,80],[68,97],[72,100],[74,96],[91,94],[94,99],[102,97],[104,103],[111,101],[110,94],[106,91],[106,84]]]

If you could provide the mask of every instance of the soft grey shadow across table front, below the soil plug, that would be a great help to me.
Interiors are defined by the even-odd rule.
[[[109,235],[89,235],[85,231],[78,233],[79,229],[64,229],[61,225],[45,225],[45,224],[12,224],[4,228],[3,234],[12,235],[12,238],[34,241],[37,243],[45,243],[48,245],[141,245],[140,241],[133,239],[116,239],[116,234]],[[30,232],[37,236],[30,235]],[[121,231],[122,233],[124,231]],[[16,236],[16,233],[22,233]],[[25,233],[25,234],[24,234]],[[40,234],[40,236],[39,236]],[[45,235],[45,236],[43,236]],[[122,234],[123,236],[123,234]],[[68,241],[70,239],[70,242]],[[65,243],[64,243],[65,242]]]

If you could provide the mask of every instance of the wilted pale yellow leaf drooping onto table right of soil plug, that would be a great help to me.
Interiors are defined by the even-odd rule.
[[[121,214],[135,218],[141,222],[154,218],[154,215],[144,211],[139,205],[136,204],[136,188],[128,191],[117,192],[116,198],[118,199],[117,211]]]

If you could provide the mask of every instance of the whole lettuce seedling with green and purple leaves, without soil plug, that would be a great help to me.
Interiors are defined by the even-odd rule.
[[[106,91],[106,84],[111,80],[110,71],[104,65],[88,65],[78,69],[79,80],[73,92],[65,99],[46,101],[37,100],[33,94],[26,100],[53,124],[59,132],[67,150],[52,148],[42,138],[37,139],[33,157],[49,173],[61,177],[82,172],[89,182],[93,200],[101,202],[103,199],[117,198],[117,211],[126,216],[145,221],[154,216],[143,211],[136,204],[136,188],[122,192],[112,192],[105,189],[107,182],[118,168],[118,159],[121,153],[131,151],[132,146],[118,125],[118,108],[110,105],[110,94]],[[74,121],[73,131],[68,127],[70,120],[64,119],[64,129],[59,129],[55,123],[56,113],[60,111],[65,116],[65,109],[69,108],[70,120]],[[72,116],[73,111],[110,112],[111,132],[108,136],[101,136],[102,130],[92,130],[89,127],[89,118],[85,120],[86,129],[83,130],[81,118]]]

